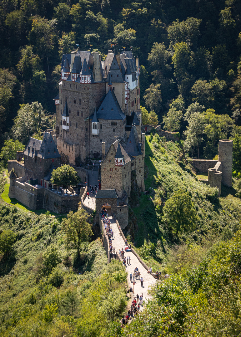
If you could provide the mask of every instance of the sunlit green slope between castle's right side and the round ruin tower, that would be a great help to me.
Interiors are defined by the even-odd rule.
[[[232,188],[222,186],[217,198],[216,188],[198,181],[181,143],[168,142],[157,134],[150,142],[150,137],[146,136],[145,142],[145,188],[149,194],[141,193],[139,206],[132,207],[126,235],[130,234],[147,264],[170,273],[178,270],[178,255],[189,245],[195,247],[193,264],[198,264],[214,243],[232,238],[241,222],[241,200],[235,197],[237,180],[233,179]],[[190,233],[176,237],[163,216],[163,207],[180,189],[190,195],[198,218]]]

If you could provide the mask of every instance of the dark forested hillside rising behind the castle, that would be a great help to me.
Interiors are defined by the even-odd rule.
[[[141,105],[181,133],[189,155],[214,157],[220,137],[240,145],[238,0],[1,0],[0,32],[1,146],[54,127],[61,55],[77,47],[103,59],[132,49]]]

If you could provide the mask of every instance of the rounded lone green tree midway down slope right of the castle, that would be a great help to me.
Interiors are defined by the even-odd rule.
[[[193,231],[198,216],[188,192],[174,192],[163,207],[163,219],[176,235]]]

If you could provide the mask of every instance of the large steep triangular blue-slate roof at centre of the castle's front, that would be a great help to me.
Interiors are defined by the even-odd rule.
[[[101,103],[100,108],[97,112],[97,117],[99,119],[119,119],[124,120],[126,116],[120,109],[119,103],[113,90],[109,90]],[[90,117],[93,118],[93,117]]]

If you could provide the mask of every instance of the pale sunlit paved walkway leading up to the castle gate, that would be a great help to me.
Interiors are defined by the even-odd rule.
[[[114,232],[114,236],[113,236],[113,240],[112,240],[112,245],[113,247],[115,247],[115,252],[116,254],[119,255],[119,249],[121,250],[122,248],[124,249],[125,247],[125,242],[122,238],[122,235],[119,232],[119,229],[117,227],[116,222],[114,221],[114,219],[112,218],[112,216],[109,217],[110,222],[111,222],[111,227],[112,230]],[[147,270],[140,264],[140,262],[138,261],[137,257],[132,253],[132,252],[125,252],[125,256],[130,256],[131,261],[130,264],[126,264],[126,271],[128,273],[127,277],[129,279],[129,282],[132,283],[130,281],[130,273],[133,274],[134,269],[137,267],[138,270],[140,271],[140,278],[141,276],[143,277],[143,287],[141,287],[141,283],[140,280],[135,280],[135,285],[134,285],[134,295],[136,296],[141,295],[143,293],[143,300],[149,299],[151,298],[150,295],[148,295],[148,287],[155,283],[155,279],[152,275],[147,273]],[[132,279],[133,280],[133,279]],[[133,287],[133,286],[132,286]],[[143,306],[140,306],[140,310],[143,310]]]

